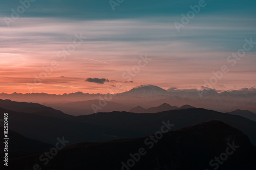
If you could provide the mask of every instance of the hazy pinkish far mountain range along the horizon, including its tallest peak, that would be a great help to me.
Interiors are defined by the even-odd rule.
[[[83,92],[65,93],[61,95],[47,93],[1,93],[0,99],[9,99],[17,102],[35,102],[44,105],[49,104],[49,106],[53,107],[54,104],[57,106],[72,102],[105,100],[106,95],[112,98],[108,103],[113,102],[130,107],[128,110],[122,109],[123,111],[129,111],[131,108],[137,106],[150,108],[168,103],[178,107],[191,105],[196,108],[205,108],[220,112],[231,112],[241,109],[256,113],[256,89],[253,87],[220,92],[215,89],[169,88],[165,90],[154,85],[141,85],[117,94],[89,94]],[[108,109],[106,110],[108,111]],[[88,113],[91,114],[92,112],[90,111]]]

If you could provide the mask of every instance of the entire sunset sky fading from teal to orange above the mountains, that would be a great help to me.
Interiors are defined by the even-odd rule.
[[[256,44],[229,58],[256,42],[254,1],[21,2],[0,3],[0,92],[256,87]]]

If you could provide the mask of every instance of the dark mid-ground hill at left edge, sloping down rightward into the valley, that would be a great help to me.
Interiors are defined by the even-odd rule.
[[[15,112],[3,108],[0,108],[0,113],[0,119],[4,118],[4,113],[8,113],[9,129],[28,138],[51,144],[55,144],[56,139],[62,136],[72,139],[70,143],[76,143],[110,140],[108,136],[104,136],[103,131],[111,131],[118,135],[126,133],[126,131],[122,132],[115,128],[91,125],[71,115],[71,118],[59,118],[44,114]],[[2,123],[0,126],[2,127],[4,124]],[[120,134],[117,131],[120,131]]]

